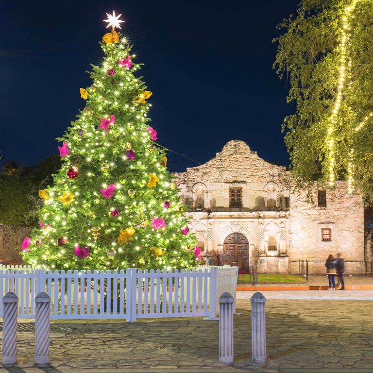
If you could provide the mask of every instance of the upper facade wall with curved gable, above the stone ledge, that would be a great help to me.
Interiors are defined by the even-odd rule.
[[[192,207],[222,210],[229,207],[229,188],[242,187],[243,206],[266,209],[268,200],[273,208],[280,207],[280,197],[288,196],[281,188],[286,169],[272,165],[240,140],[229,141],[221,153],[205,164],[176,172],[178,185],[186,202]]]

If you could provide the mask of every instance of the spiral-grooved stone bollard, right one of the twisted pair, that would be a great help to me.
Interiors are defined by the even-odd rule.
[[[45,293],[35,298],[35,363],[49,363],[49,314],[51,298]]]

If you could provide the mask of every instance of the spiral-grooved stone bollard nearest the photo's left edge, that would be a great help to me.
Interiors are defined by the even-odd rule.
[[[6,293],[2,298],[2,305],[2,364],[14,365],[17,362],[17,295]]]

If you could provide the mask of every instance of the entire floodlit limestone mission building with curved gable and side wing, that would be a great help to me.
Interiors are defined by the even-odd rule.
[[[307,259],[310,273],[323,274],[327,256],[337,253],[348,273],[370,268],[359,193],[349,195],[339,181],[334,189],[315,189],[314,203],[306,202],[288,175],[240,140],[205,164],[175,173],[198,246],[241,271],[256,265],[261,272],[297,273],[299,259]]]

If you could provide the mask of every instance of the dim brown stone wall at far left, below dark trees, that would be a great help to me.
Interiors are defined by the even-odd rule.
[[[20,245],[30,233],[29,227],[0,224],[0,259],[21,260]]]

